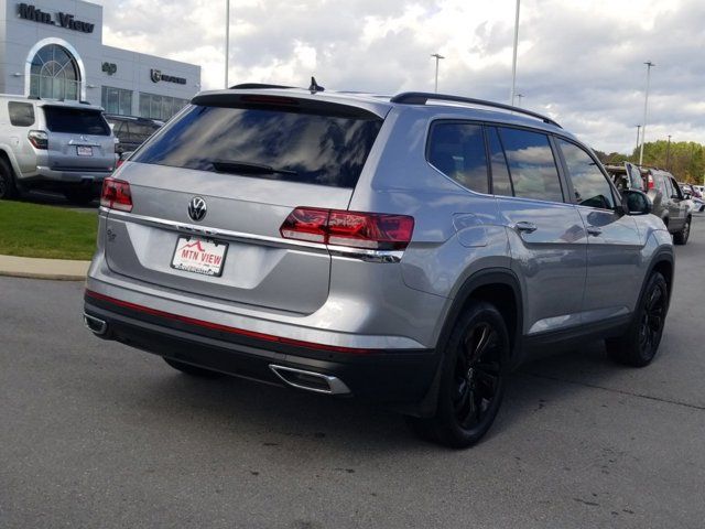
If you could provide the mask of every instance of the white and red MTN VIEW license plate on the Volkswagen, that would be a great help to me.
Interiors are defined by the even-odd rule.
[[[228,246],[228,242],[205,237],[180,235],[172,253],[171,268],[198,276],[219,278],[223,276]]]

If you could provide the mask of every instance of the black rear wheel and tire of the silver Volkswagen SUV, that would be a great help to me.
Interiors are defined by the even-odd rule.
[[[509,333],[500,312],[474,302],[443,352],[436,413],[408,418],[420,436],[454,449],[476,444],[492,425],[505,395]]]

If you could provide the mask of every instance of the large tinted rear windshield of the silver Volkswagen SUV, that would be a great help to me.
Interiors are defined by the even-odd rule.
[[[355,187],[381,125],[371,117],[194,106],[132,161]]]

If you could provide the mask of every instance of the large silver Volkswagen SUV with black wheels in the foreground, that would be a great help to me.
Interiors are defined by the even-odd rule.
[[[532,350],[654,357],[674,256],[555,121],[500,104],[203,93],[106,180],[85,322],[189,375],[381,402],[468,446]]]

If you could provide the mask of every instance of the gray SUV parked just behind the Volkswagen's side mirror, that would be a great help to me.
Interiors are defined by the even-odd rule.
[[[674,242],[687,244],[693,204],[683,195],[671,173],[655,168],[639,168],[629,162],[623,165],[606,165],[605,169],[619,190],[647,191],[653,214],[663,220],[673,235]]]

